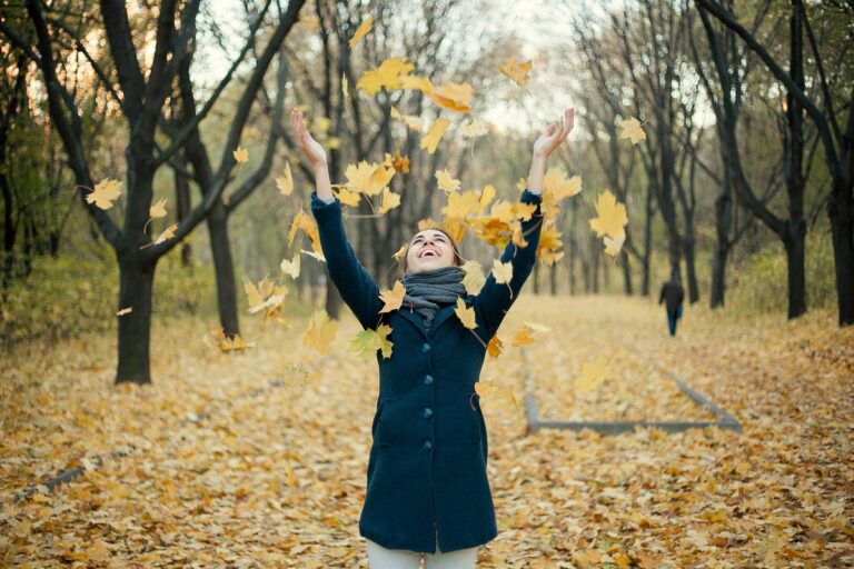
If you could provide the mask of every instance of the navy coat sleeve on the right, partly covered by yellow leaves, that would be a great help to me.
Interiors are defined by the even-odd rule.
[[[543,197],[539,193],[534,193],[530,190],[525,190],[519,197],[519,201],[523,203],[534,203],[537,208],[530,216],[530,219],[522,222],[522,232],[525,240],[528,242],[526,247],[518,248],[510,241],[504,248],[502,254],[502,262],[510,262],[513,264],[513,278],[510,279],[510,287],[507,288],[507,283],[498,283],[495,281],[495,276],[489,272],[484,287],[480,292],[477,293],[473,306],[475,312],[481,320],[486,338],[484,340],[491,339],[498,331],[504,317],[507,316],[507,311],[513,306],[513,302],[518,298],[522,286],[534,269],[536,262],[537,246],[539,244],[539,234],[543,230],[543,213],[540,212],[539,204],[543,202]],[[510,295],[513,289],[513,295]]]

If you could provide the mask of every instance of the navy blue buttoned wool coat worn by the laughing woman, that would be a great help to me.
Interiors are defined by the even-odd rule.
[[[542,197],[529,190],[520,201],[536,210],[522,227],[527,247],[510,241],[502,262],[513,262],[510,288],[491,273],[474,307],[474,331],[488,343],[518,297],[536,260],[542,230]],[[371,426],[367,492],[359,535],[389,549],[435,553],[480,546],[497,535],[486,473],[487,433],[475,382],[486,348],[454,313],[441,307],[429,331],[406,306],[379,313],[379,289],[356,258],[344,229],[341,202],[326,203],[311,192],[329,279],[364,329],[391,327],[391,357],[379,365],[379,397]],[[528,232],[529,231],[529,232]]]

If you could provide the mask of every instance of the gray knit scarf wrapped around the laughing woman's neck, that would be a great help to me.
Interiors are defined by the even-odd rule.
[[[457,266],[407,272],[403,281],[406,293],[400,309],[415,309],[424,318],[424,327],[429,330],[439,305],[454,305],[457,298],[466,296],[466,287],[463,286],[466,271]]]

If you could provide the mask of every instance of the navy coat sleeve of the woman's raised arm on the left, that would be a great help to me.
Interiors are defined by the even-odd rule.
[[[341,219],[340,200],[335,198],[334,201],[326,202],[318,198],[317,191],[312,191],[311,214],[317,221],[329,280],[335,283],[341,299],[350,307],[361,327],[376,329],[379,311],[383,309],[379,287],[356,258],[352,246],[347,239]]]

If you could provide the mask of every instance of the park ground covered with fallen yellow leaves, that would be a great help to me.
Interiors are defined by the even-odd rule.
[[[499,535],[478,567],[854,565],[854,329],[689,307],[671,338],[645,300],[530,293],[500,335],[523,321],[550,327],[524,355],[542,418],[709,418],[666,369],[744,432],[526,435],[523,353],[505,341],[481,376],[499,388],[481,398]],[[367,567],[376,362],[348,351],[349,313],[334,355],[304,349],[307,320],[291,325],[246,319],[257,347],[242,355],[215,347],[211,322],[156,326],[142,388],[111,385],[113,338],[4,356],[0,567]],[[597,357],[608,376],[580,389]]]

